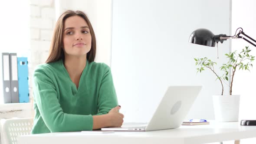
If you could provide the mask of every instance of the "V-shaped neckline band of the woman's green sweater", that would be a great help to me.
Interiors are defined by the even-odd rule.
[[[88,65],[89,65],[87,59],[86,59],[85,68],[83,69],[82,74],[81,74],[81,77],[80,77],[80,79],[79,79],[78,88],[76,88],[75,83],[74,83],[74,82],[72,81],[72,79],[70,78],[69,72],[68,72],[67,69],[65,68],[64,63],[63,63],[63,60],[60,60],[59,63],[60,63],[60,65],[61,65],[61,67],[62,67],[62,69],[63,69],[65,75],[67,76],[67,78],[69,79],[70,83],[72,84],[72,93],[73,93],[73,95],[76,95],[76,94],[79,92],[79,90],[81,89],[80,87],[81,87],[81,84],[82,84],[82,79],[83,79],[83,77],[84,77],[84,75],[85,75],[85,73],[86,73],[86,70],[87,70],[86,68],[87,68]]]

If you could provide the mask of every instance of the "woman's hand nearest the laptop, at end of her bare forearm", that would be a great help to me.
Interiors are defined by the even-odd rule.
[[[116,106],[108,112],[110,127],[121,127],[124,120],[124,115],[119,112],[121,106]]]

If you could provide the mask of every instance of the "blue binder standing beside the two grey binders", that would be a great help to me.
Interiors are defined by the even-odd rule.
[[[29,77],[28,61],[26,57],[17,57],[18,62],[18,82],[20,103],[29,102]]]

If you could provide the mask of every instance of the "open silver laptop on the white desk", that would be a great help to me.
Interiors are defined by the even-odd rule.
[[[148,123],[123,124],[102,128],[102,131],[155,131],[179,128],[193,105],[202,86],[169,86]]]

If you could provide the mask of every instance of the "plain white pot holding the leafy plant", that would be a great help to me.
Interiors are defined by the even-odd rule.
[[[215,120],[238,121],[240,95],[213,95]]]

